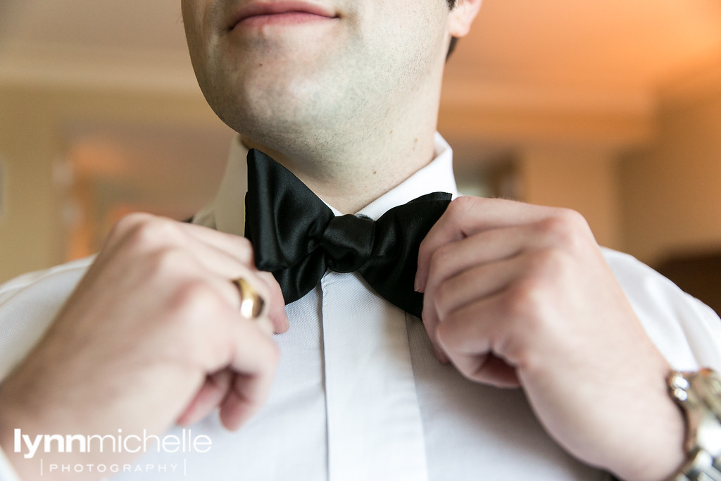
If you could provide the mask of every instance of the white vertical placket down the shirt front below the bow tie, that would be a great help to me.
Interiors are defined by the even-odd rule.
[[[427,480],[406,314],[355,274],[321,288],[329,481]]]

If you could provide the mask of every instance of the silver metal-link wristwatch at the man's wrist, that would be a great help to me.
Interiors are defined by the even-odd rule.
[[[668,389],[686,415],[689,461],[673,481],[721,481],[721,376],[711,369],[674,371]]]

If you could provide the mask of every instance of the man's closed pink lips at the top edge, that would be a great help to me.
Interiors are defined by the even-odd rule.
[[[337,14],[317,4],[305,1],[274,1],[273,3],[252,2],[243,6],[234,15],[229,30],[237,25],[293,24],[319,19],[337,18]]]

